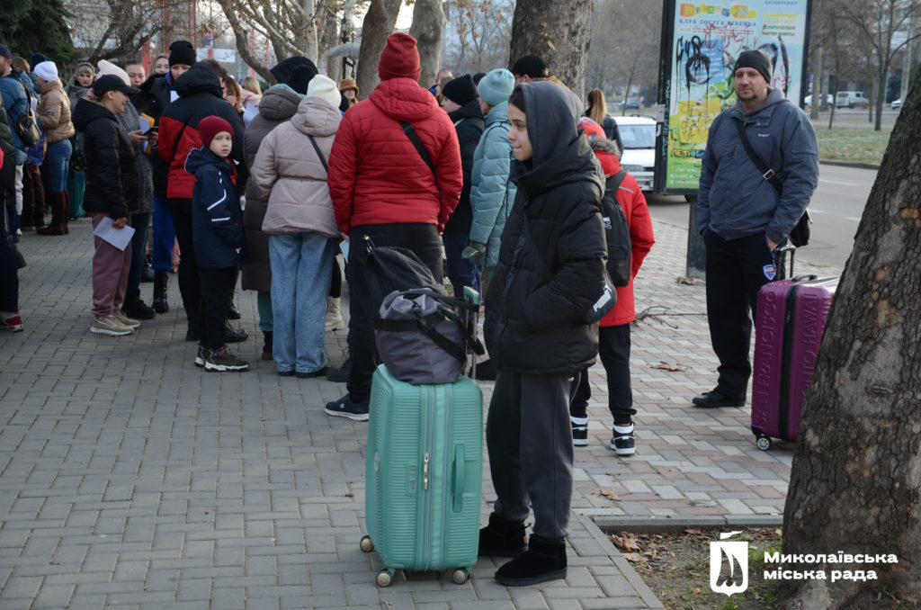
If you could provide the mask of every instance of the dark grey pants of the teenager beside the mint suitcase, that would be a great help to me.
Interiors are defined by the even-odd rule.
[[[568,534],[572,505],[569,380],[500,370],[486,416],[495,514],[523,523],[533,508],[534,534],[550,540]]]

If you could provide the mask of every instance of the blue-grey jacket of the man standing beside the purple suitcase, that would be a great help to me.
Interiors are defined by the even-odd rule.
[[[754,152],[777,172],[783,194],[764,180],[745,152],[738,122]],[[764,233],[787,238],[819,183],[819,148],[805,112],[771,89],[752,113],[740,102],[710,126],[697,191],[697,231],[712,230],[724,240]]]

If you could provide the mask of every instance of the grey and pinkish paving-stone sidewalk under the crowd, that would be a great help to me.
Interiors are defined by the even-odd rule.
[[[446,572],[377,587],[379,558],[358,546],[367,424],[323,412],[344,385],[279,378],[258,359],[252,293],[239,294],[251,339],[235,347],[253,370],[207,374],[192,366],[175,281],[172,311],[134,336],[90,334],[88,221],[64,237],[27,233],[26,331],[0,336],[0,608],[661,607],[599,524],[779,514],[791,452],[759,452],[748,409],[691,407],[716,366],[704,287],[676,282],[685,230],[655,228],[637,282],[646,311],[633,341],[637,454],[607,449],[596,366],[568,578],[520,589],[495,583],[491,559],[463,585]],[[338,363],[345,333],[327,337]],[[493,499],[484,469],[484,522]]]

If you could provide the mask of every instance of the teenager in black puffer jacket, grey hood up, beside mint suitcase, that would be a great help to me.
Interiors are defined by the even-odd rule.
[[[600,217],[604,182],[588,142],[577,135],[577,97],[554,83],[534,82],[515,88],[508,104],[518,194],[486,291],[484,334],[498,369],[486,444],[497,499],[480,534],[480,555],[515,557],[524,550],[532,507],[527,552],[495,573],[501,584],[519,586],[565,578],[573,491],[570,379],[598,355],[598,324],[581,318],[604,291],[607,245]],[[542,256],[551,281],[535,256]]]

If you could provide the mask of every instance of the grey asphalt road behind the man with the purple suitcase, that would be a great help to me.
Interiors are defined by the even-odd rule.
[[[876,170],[822,164],[819,187],[810,203],[812,237],[810,245],[798,252],[798,264],[808,262],[819,268],[844,268],[876,173]],[[688,205],[684,197],[649,195],[647,200],[656,220],[683,228],[688,226]]]

